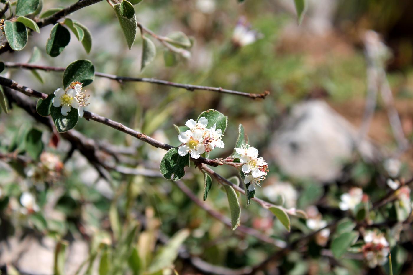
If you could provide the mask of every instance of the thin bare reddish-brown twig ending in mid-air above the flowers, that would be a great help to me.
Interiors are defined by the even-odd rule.
[[[21,68],[21,69],[36,69],[36,70],[43,70],[43,71],[64,71],[65,68],[63,67],[52,67],[52,66],[41,66],[41,65],[34,65],[34,64],[27,64],[27,63],[14,63],[14,62],[5,62],[5,66],[7,68]],[[185,90],[188,90],[190,92],[193,92],[195,90],[205,90],[205,91],[211,91],[211,92],[220,92],[220,93],[228,93],[228,94],[233,94],[233,95],[240,95],[244,97],[249,97],[251,99],[256,99],[256,98],[265,98],[267,95],[270,93],[268,91],[262,93],[262,94],[252,94],[248,92],[239,92],[239,91],[234,91],[234,90],[227,90],[223,89],[221,87],[208,87],[208,86],[200,86],[200,85],[190,85],[190,84],[181,84],[181,83],[176,83],[176,82],[171,82],[171,81],[165,81],[165,80],[160,80],[156,78],[145,78],[145,77],[128,77],[128,76],[116,76],[113,74],[109,73],[100,73],[100,72],[95,72],[95,76],[99,77],[104,77],[104,78],[109,78],[114,81],[117,81],[119,83],[123,82],[147,82],[147,83],[152,83],[152,84],[158,84],[158,85],[166,85],[166,86],[172,86],[176,88],[182,88]]]

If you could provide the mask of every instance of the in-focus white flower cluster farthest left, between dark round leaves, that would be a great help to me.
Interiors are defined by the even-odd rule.
[[[83,107],[89,105],[88,95],[86,91],[82,91],[82,83],[72,82],[66,90],[62,88],[57,88],[54,92],[55,97],[53,98],[53,106],[62,106],[62,115],[67,116],[71,108],[78,109],[80,117],[83,117]]]

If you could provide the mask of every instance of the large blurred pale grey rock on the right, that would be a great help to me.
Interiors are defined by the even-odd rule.
[[[271,154],[281,170],[296,178],[335,180],[357,147],[358,130],[327,103],[310,100],[294,106],[276,131]],[[379,156],[362,140],[358,150],[366,161]]]

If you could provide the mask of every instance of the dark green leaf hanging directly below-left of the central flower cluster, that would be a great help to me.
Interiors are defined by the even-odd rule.
[[[185,175],[185,166],[189,166],[189,154],[180,156],[178,149],[171,148],[161,160],[161,173],[168,180],[179,180]]]

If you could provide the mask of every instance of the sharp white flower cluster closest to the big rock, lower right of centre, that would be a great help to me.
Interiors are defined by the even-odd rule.
[[[248,186],[248,191],[255,190],[255,185],[259,185],[261,180],[264,180],[267,175],[268,164],[261,157],[258,157],[258,150],[249,145],[242,145],[241,148],[235,148],[235,151],[240,154],[240,161],[244,164],[241,168],[246,175],[244,183],[251,183]]]

